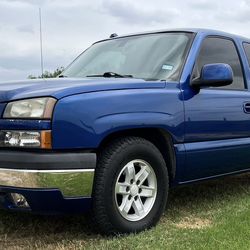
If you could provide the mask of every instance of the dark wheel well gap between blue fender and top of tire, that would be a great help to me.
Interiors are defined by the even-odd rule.
[[[127,136],[142,137],[153,143],[159,149],[165,160],[166,167],[168,168],[169,172],[170,181],[175,178],[176,157],[173,146],[173,139],[168,131],[161,128],[138,128],[113,132],[107,135],[101,141],[97,150],[97,155],[104,147],[106,147],[112,141]]]

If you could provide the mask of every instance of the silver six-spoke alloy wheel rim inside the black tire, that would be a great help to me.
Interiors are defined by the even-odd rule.
[[[144,160],[127,163],[115,184],[115,201],[120,214],[129,221],[139,221],[151,211],[157,195],[154,169]]]

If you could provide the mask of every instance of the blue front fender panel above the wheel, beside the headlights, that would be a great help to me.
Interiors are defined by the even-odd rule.
[[[183,140],[183,105],[179,90],[133,89],[65,97],[56,104],[54,149],[94,149],[109,134],[134,128],[162,128]]]

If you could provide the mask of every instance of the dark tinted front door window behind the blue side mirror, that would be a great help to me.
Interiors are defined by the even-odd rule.
[[[233,83],[224,86],[223,89],[245,89],[239,55],[231,40],[218,37],[206,38],[201,45],[194,68],[194,76],[200,75],[203,65],[211,63],[227,63],[232,67],[234,74]]]

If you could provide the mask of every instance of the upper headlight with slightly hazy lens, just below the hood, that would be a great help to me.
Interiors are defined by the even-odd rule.
[[[4,118],[51,119],[56,99],[42,97],[10,102],[7,104]]]

